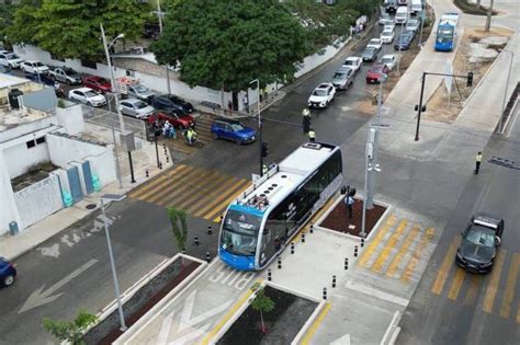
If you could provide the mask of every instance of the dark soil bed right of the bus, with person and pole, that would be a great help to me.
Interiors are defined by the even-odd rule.
[[[341,200],[319,226],[338,232],[359,235],[363,221],[363,200],[357,198],[354,198],[354,200],[352,218],[349,218],[347,205]],[[373,230],[375,223],[380,220],[385,210],[386,207],[376,204],[374,204],[374,208],[366,210],[366,234]]]

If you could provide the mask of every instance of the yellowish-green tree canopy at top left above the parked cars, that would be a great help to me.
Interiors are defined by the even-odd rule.
[[[15,11],[7,30],[13,44],[34,44],[61,58],[95,58],[103,51],[100,23],[108,37],[143,33],[150,7],[134,0],[43,0]]]

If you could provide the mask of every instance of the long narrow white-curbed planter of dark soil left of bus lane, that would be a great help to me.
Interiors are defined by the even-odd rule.
[[[128,290],[122,294],[123,310],[127,327],[135,324],[150,309],[158,307],[167,296],[177,294],[191,281],[206,263],[183,254],[159,264]],[[117,304],[113,301],[98,318],[100,322],[87,331],[86,344],[112,344],[123,332],[120,330]]]

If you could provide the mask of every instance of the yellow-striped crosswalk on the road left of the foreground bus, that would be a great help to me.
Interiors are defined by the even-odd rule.
[[[250,184],[218,171],[180,164],[128,196],[165,208],[174,206],[194,217],[218,222],[227,205]]]

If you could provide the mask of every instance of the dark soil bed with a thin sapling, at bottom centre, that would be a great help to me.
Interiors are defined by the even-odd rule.
[[[260,313],[249,306],[217,344],[291,344],[318,306],[269,285],[264,292],[275,304],[272,311],[263,313],[265,334],[261,332]]]

